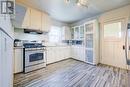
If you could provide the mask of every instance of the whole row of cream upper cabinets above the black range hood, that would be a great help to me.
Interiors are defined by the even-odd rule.
[[[34,29],[48,32],[51,26],[51,19],[48,14],[16,4],[16,14],[13,21],[14,27],[21,29]]]

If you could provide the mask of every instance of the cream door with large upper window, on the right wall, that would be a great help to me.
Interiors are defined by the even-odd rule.
[[[102,59],[103,64],[126,69],[125,58],[125,20],[116,20],[102,25]]]

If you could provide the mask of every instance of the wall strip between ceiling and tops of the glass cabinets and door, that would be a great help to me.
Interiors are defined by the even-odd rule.
[[[124,6],[121,8],[110,10],[108,12],[104,12],[104,13],[97,15],[97,16],[94,16],[94,17],[86,18],[86,19],[83,19],[81,21],[69,24],[69,26],[78,26],[78,25],[81,25],[87,21],[90,21],[93,19],[99,19],[99,18],[100,18],[99,19],[100,22],[105,21],[107,19],[116,19],[119,17],[127,17],[128,18],[129,15],[130,15],[130,5],[127,5],[127,6]]]

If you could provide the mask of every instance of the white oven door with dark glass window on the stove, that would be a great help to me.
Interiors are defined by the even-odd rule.
[[[25,50],[25,67],[44,63],[45,53],[43,49]]]

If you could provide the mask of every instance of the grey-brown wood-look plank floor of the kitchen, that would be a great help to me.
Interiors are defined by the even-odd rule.
[[[127,70],[73,59],[14,76],[14,87],[128,87]]]

